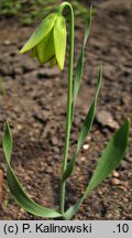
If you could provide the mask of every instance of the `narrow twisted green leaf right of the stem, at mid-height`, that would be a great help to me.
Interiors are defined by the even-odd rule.
[[[97,83],[96,94],[95,94],[94,100],[91,102],[90,109],[88,111],[88,115],[87,115],[87,117],[85,119],[85,122],[82,125],[82,128],[80,130],[79,139],[78,139],[78,142],[77,142],[77,150],[76,150],[73,159],[67,164],[67,169],[66,169],[66,171],[64,173],[64,176],[63,176],[64,181],[67,180],[72,175],[72,173],[74,171],[75,161],[77,159],[78,152],[79,152],[82,143],[85,142],[86,137],[88,136],[88,133],[91,130],[95,113],[96,113],[97,99],[98,99],[98,95],[99,95],[99,90],[100,90],[100,86],[101,86],[101,76],[102,76],[102,68],[100,67],[99,72],[98,72],[98,83]]]

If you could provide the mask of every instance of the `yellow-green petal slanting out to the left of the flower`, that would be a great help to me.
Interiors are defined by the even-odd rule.
[[[35,30],[35,32],[31,35],[29,41],[25,43],[25,45],[22,47],[20,53],[25,53],[26,51],[33,48],[35,45],[37,45],[52,30],[54,26],[55,20],[57,18],[56,13],[52,13],[48,17],[46,17],[42,23],[38,25],[38,28]]]

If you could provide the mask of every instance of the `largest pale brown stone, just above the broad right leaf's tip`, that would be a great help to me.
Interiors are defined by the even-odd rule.
[[[112,115],[109,111],[100,110],[96,115],[96,119],[99,123],[111,129],[118,129],[119,123],[112,118]]]

